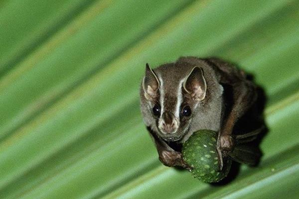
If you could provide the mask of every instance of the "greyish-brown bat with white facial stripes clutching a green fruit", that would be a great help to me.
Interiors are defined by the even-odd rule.
[[[233,129],[256,100],[257,87],[246,73],[217,58],[180,57],[155,69],[146,64],[140,87],[141,112],[159,160],[185,169],[190,166],[181,146],[200,129],[219,132],[219,170],[226,157],[255,165],[261,154],[247,143],[264,127],[241,134]]]

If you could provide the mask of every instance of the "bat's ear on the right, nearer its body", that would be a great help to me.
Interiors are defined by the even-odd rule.
[[[207,85],[203,77],[202,68],[194,67],[187,76],[183,87],[193,100],[203,100],[206,95]]]

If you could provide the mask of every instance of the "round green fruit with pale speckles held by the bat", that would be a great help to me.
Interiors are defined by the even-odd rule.
[[[194,132],[183,144],[182,154],[185,162],[193,167],[192,176],[206,183],[219,182],[230,170],[232,160],[224,159],[224,167],[219,172],[216,140],[218,133],[212,130]]]

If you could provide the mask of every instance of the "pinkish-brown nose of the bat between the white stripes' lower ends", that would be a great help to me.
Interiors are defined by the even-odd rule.
[[[178,122],[172,113],[164,112],[159,120],[159,129],[164,134],[175,133],[178,128]]]

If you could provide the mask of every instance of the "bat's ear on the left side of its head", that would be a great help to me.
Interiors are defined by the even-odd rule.
[[[145,97],[147,100],[152,100],[157,97],[160,83],[157,76],[149,67],[148,63],[146,65],[146,75],[143,79],[142,86],[145,91]]]

